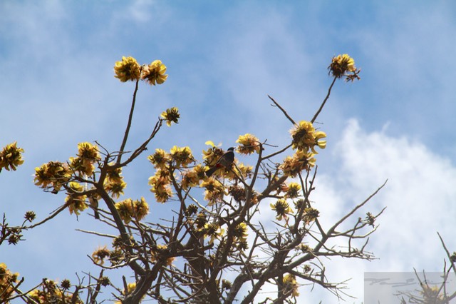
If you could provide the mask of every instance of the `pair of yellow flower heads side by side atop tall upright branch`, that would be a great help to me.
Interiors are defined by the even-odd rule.
[[[122,82],[138,81],[142,79],[150,85],[162,84],[166,81],[166,66],[162,61],[155,60],[149,65],[140,66],[133,57],[122,57],[121,61],[116,61],[114,65],[115,78]]]

